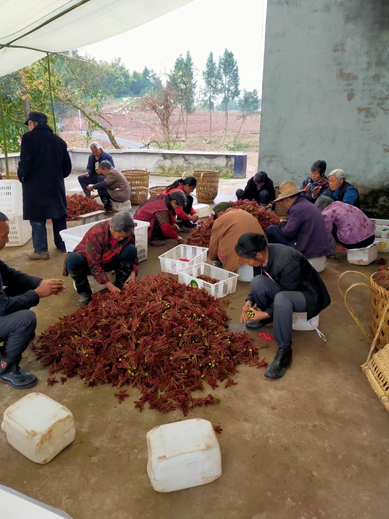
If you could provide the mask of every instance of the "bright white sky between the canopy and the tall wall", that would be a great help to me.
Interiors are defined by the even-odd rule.
[[[103,17],[109,23],[109,13]],[[168,73],[179,54],[189,50],[201,73],[210,51],[216,63],[225,48],[237,60],[240,88],[258,90],[261,97],[266,0],[194,0],[132,31],[108,38],[80,52],[98,60],[120,57],[132,72],[145,66]]]

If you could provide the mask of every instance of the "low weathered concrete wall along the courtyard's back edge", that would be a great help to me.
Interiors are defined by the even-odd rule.
[[[68,149],[74,169],[83,169],[88,162],[90,150],[87,148]],[[109,149],[112,154],[115,166],[119,170],[123,169],[148,169],[150,173],[181,176],[183,173],[190,175],[193,170],[211,169],[220,171],[220,176],[233,175],[234,165],[237,158],[240,158],[240,176],[246,176],[246,162],[242,159],[247,156],[240,152],[186,152],[186,151],[166,151],[159,149]],[[18,168],[19,154],[9,155],[9,171],[16,171]],[[235,171],[237,165],[235,165]],[[0,156],[0,172],[5,172],[4,155]]]

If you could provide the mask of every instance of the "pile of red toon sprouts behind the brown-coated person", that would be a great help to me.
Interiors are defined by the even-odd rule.
[[[265,207],[258,206],[255,201],[238,200],[237,202],[232,202],[232,207],[243,209],[257,218],[264,233],[269,225],[278,225],[280,223],[279,216],[268,211]],[[208,247],[211,241],[213,224],[213,216],[210,216],[203,222],[199,223],[196,229],[193,229],[188,236],[188,245]]]

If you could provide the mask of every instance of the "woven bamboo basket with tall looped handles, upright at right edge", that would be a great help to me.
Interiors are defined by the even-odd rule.
[[[358,274],[359,276],[362,276],[367,281],[369,281],[369,284],[367,283],[353,283],[349,288],[343,293],[343,291],[340,288],[340,280],[342,277],[346,274]],[[350,305],[348,301],[348,293],[350,290],[352,290],[355,286],[367,286],[367,288],[370,288],[370,298],[371,298],[371,308],[370,308],[370,330],[369,333],[365,331],[365,328],[363,324],[359,321],[354,309]],[[389,272],[388,271],[382,271],[382,272],[374,272],[368,278],[361,272],[358,272],[356,270],[346,270],[343,272],[341,276],[339,276],[338,279],[338,288],[340,293],[343,296],[344,304],[346,308],[349,310],[351,317],[354,319],[354,321],[359,326],[360,330],[365,334],[367,340],[369,343],[372,343],[372,341],[376,338],[374,342],[374,347],[380,350],[386,344],[389,343],[389,322],[388,319],[386,321],[383,319],[383,316],[386,316],[387,310],[389,309]],[[387,317],[387,316],[386,316]],[[381,322],[382,321],[382,322]]]

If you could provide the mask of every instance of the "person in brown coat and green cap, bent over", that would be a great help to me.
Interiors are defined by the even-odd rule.
[[[211,261],[218,261],[223,268],[234,272],[242,264],[235,245],[244,233],[263,234],[257,218],[243,209],[235,209],[231,202],[219,202],[214,208],[215,223],[212,227],[208,254]]]

